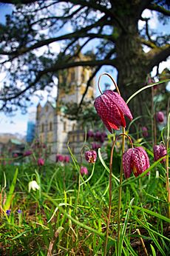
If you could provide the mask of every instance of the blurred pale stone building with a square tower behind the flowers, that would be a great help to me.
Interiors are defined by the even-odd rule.
[[[78,59],[86,58],[81,53]],[[68,155],[67,142],[73,153],[80,152],[84,142],[83,127],[75,120],[69,120],[64,114],[64,107],[68,103],[79,104],[86,90],[86,83],[92,73],[88,67],[73,67],[62,70],[58,75],[58,97],[56,102],[47,101],[44,107],[39,103],[36,112],[35,136],[50,148],[51,157],[56,154]],[[86,100],[93,101],[95,96],[95,81],[86,94]]]

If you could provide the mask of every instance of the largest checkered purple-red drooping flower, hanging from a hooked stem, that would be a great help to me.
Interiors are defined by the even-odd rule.
[[[106,90],[102,95],[95,99],[95,109],[98,112],[103,124],[109,132],[112,129],[120,129],[119,127],[126,127],[124,115],[131,121],[132,114],[123,98],[112,90]]]

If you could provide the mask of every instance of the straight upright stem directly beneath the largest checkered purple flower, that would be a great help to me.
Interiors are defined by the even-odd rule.
[[[125,133],[125,128],[123,127],[123,133]],[[121,220],[121,197],[122,197],[122,181],[123,181],[123,152],[125,149],[125,137],[122,137],[122,159],[121,159],[121,166],[120,166],[120,182],[119,182],[119,192],[118,192],[118,240],[117,240],[117,250],[118,256],[119,255],[119,246],[120,246],[120,220]]]

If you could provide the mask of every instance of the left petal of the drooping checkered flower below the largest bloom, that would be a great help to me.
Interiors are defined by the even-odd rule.
[[[123,171],[125,178],[129,178],[132,172],[132,151],[133,149],[128,149],[126,152],[123,153]]]

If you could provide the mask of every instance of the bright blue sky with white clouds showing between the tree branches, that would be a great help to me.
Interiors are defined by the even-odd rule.
[[[2,23],[5,22],[5,15],[11,13],[12,8],[10,4],[0,4],[0,21]],[[151,12],[149,10],[145,10],[143,12],[143,17],[149,17],[151,16]],[[155,16],[155,12],[152,13],[152,18],[149,21],[149,26],[154,29],[157,30],[157,28],[159,28],[159,30],[164,30],[165,33],[169,31],[169,25],[166,26],[166,30],[165,28],[163,28],[163,25],[160,24],[160,22],[157,20],[157,17]],[[140,21],[138,26],[139,27],[143,27],[144,22]],[[50,44],[50,46],[52,48],[54,48],[55,50],[58,49],[58,51],[60,50],[59,47],[56,47],[56,44],[54,43],[53,45]],[[147,48],[146,48],[147,51]],[[41,54],[41,50],[40,50],[40,54]],[[165,68],[168,67],[170,69],[170,60],[169,61],[163,61],[163,63],[160,64],[160,72]],[[106,72],[109,73],[110,75],[112,75],[113,78],[117,78],[117,71],[111,67],[111,66],[105,66],[102,67],[101,70],[99,71],[99,73],[96,75],[95,80],[98,81],[98,77],[101,73]],[[156,69],[154,68],[152,71],[152,76],[156,74]],[[0,74],[0,83],[3,81],[4,75]],[[110,81],[110,79],[108,77],[104,77],[101,78],[101,84],[112,84],[112,82]],[[50,92],[51,96],[57,95],[57,90],[56,90],[56,84],[57,81],[55,81],[55,85],[52,88],[52,91]],[[111,87],[111,89],[114,89],[114,86]],[[169,83],[169,89],[170,89],[170,83]],[[102,88],[101,88],[102,90]],[[44,100],[41,101],[41,104],[45,104],[45,102],[47,101],[47,98],[49,97],[49,95],[47,94],[47,92],[37,92],[38,95],[44,95]],[[98,88],[96,88],[96,95],[98,95]],[[29,121],[30,118],[33,118],[33,116],[35,116],[35,107],[38,105],[38,98],[36,96],[33,97],[33,106],[30,107],[28,109],[27,114],[22,115],[21,111],[16,112],[15,115],[7,117],[6,115],[3,114],[3,112],[0,112],[0,133],[4,133],[4,132],[9,132],[9,133],[19,133],[21,135],[26,135],[27,134],[27,121]]]

